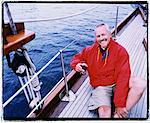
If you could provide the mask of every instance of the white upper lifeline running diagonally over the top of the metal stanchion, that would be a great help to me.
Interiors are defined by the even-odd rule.
[[[72,43],[74,43],[76,40],[73,40],[71,43],[69,43],[65,48],[63,48],[62,50],[60,50],[61,52],[64,51],[66,48],[68,48]],[[33,81],[33,79],[35,79],[35,77],[37,77],[44,69],[46,69],[46,67],[48,65],[50,65],[59,55],[61,52],[57,52],[53,58],[51,58],[51,60],[44,65],[37,73],[35,73],[35,75],[26,83],[24,84],[24,86],[22,86],[14,95],[12,95],[4,104],[3,104],[3,108],[8,105],[25,87],[27,87],[27,85],[29,83],[31,83],[31,81]]]

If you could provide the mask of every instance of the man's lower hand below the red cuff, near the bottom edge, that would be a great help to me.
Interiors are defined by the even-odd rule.
[[[123,107],[123,108],[120,108],[120,107],[116,108],[115,114],[117,114],[119,118],[126,118],[126,117],[128,117],[128,111],[127,111],[127,109],[125,107]]]

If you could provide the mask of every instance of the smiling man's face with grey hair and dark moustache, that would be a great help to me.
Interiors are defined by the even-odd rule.
[[[108,46],[111,34],[108,32],[105,26],[100,26],[96,28],[95,36],[101,48],[106,48]]]

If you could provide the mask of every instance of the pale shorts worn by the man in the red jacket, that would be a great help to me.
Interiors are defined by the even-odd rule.
[[[114,88],[115,84],[96,87],[91,93],[88,109],[95,110],[102,105],[111,106],[111,97]]]

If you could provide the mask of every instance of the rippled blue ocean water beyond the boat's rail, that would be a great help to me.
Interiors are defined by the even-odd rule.
[[[58,18],[80,13],[91,7],[95,9],[82,15],[57,21],[25,23],[25,28],[34,31],[34,40],[24,45],[37,71],[42,68],[60,49],[75,40],[63,55],[66,73],[71,71],[69,62],[74,54],[94,42],[94,29],[100,23],[115,26],[116,9],[119,6],[118,22],[133,11],[131,4],[100,4],[100,3],[9,3],[14,21],[28,19]],[[4,8],[4,21],[8,20]],[[13,58],[13,52],[10,54]],[[43,83],[41,94],[44,97],[62,77],[60,57],[54,60],[40,75]],[[8,67],[3,57],[3,103],[21,87],[17,76]],[[21,92],[9,103],[3,112],[5,118],[25,118],[29,109],[24,93]]]

